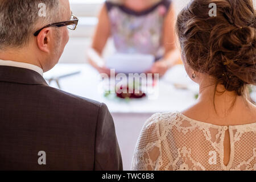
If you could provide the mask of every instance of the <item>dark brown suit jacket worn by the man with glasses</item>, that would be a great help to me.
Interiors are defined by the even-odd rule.
[[[51,88],[30,69],[0,66],[0,169],[122,170],[108,107]]]

